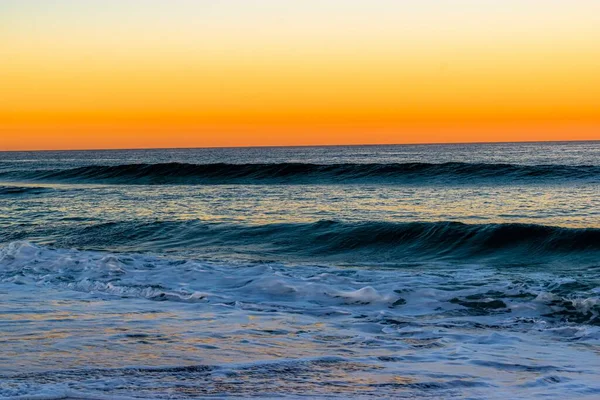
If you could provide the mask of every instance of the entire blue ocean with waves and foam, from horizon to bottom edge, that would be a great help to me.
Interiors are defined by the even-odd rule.
[[[0,398],[600,398],[600,142],[0,153]]]

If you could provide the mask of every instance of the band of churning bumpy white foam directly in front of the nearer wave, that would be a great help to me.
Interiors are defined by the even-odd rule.
[[[161,301],[239,300],[299,308],[317,303],[392,314],[402,309],[402,315],[463,311],[541,317],[564,311],[595,323],[599,310],[595,289],[563,293],[562,284],[576,282],[537,272],[215,263],[50,249],[29,242],[0,247],[0,281]]]

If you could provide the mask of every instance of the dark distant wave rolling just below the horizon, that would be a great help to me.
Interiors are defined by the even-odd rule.
[[[125,164],[9,171],[0,178],[111,184],[468,183],[600,181],[600,166],[477,163],[391,164]]]

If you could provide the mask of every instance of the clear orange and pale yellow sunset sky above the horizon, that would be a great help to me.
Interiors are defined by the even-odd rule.
[[[0,0],[0,150],[594,139],[597,0]]]

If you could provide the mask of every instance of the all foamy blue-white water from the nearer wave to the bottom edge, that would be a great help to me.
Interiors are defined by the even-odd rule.
[[[593,398],[598,293],[583,283],[13,242],[0,247],[0,397]]]

